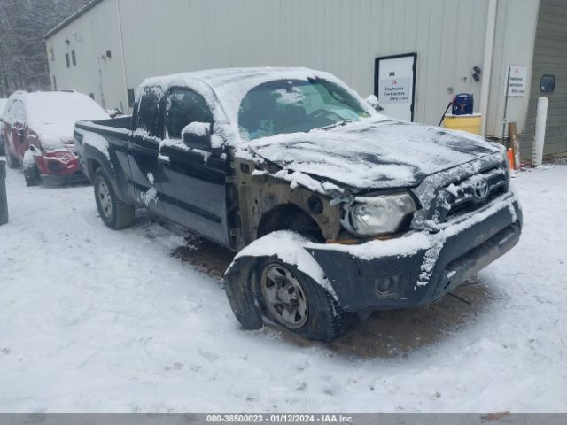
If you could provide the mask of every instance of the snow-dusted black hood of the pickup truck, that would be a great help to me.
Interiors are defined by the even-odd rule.
[[[500,151],[478,135],[377,119],[264,137],[249,147],[283,169],[358,189],[416,186],[427,175]]]

